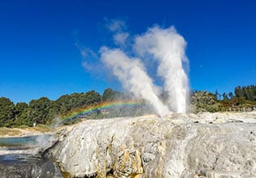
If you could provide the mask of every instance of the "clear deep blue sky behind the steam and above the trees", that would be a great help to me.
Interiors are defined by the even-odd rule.
[[[228,92],[256,84],[254,0],[2,0],[0,97],[28,103],[120,90],[111,75],[85,70],[80,54],[112,44],[111,19],[124,20],[130,34],[156,23],[175,26],[187,41],[191,89]]]

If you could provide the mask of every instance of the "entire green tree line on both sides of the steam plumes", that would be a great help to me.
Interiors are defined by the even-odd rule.
[[[164,97],[166,95],[162,95]],[[0,127],[33,126],[34,123],[50,125],[56,117],[63,117],[67,112],[76,108],[98,104],[102,101],[131,100],[131,94],[114,91],[107,88],[102,95],[97,91],[72,93],[62,95],[57,100],[50,100],[41,97],[38,100],[31,100],[28,104],[20,102],[14,104],[6,97],[0,97]],[[256,105],[256,86],[238,86],[234,93],[219,94],[207,91],[192,91],[191,111],[192,112],[221,112],[221,111],[249,111]],[[137,116],[149,111],[149,106],[142,106],[139,109],[124,108],[108,113],[109,117]],[[152,111],[152,109],[151,109]],[[92,118],[103,118],[102,113],[97,112]]]

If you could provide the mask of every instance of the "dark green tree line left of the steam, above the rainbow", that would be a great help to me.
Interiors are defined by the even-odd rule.
[[[102,101],[126,100],[128,95],[107,88],[103,95],[97,91],[62,95],[57,100],[41,97],[31,100],[28,104],[14,104],[6,97],[0,97],[0,127],[33,126],[34,123],[50,125],[54,118],[62,117],[73,109],[81,108]]]

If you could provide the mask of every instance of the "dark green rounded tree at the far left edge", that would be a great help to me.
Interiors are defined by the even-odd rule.
[[[0,126],[11,127],[15,120],[15,104],[5,97],[0,98]]]

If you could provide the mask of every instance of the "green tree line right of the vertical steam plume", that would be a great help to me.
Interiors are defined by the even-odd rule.
[[[191,104],[193,112],[252,111],[256,105],[256,85],[237,86],[234,93],[228,94],[193,91]]]

